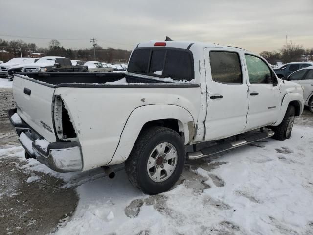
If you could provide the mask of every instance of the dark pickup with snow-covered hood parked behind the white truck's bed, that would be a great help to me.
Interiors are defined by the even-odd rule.
[[[88,72],[84,65],[73,66],[70,59],[61,56],[45,56],[36,63],[27,64],[24,72]]]

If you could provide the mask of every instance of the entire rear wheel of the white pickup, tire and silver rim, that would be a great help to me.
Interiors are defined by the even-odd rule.
[[[156,194],[174,186],[185,163],[185,146],[174,130],[155,126],[141,132],[125,162],[130,182],[144,193]]]

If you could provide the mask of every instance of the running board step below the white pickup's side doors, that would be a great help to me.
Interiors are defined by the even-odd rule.
[[[222,144],[214,145],[212,147],[201,149],[200,151],[197,151],[197,152],[190,152],[190,153],[187,153],[187,156],[188,156],[188,159],[191,159],[191,160],[207,157],[207,156],[221,153],[221,152],[224,152],[233,148],[237,148],[237,147],[249,144],[249,143],[253,143],[255,141],[264,140],[268,137],[273,136],[274,134],[275,132],[273,131],[261,132],[253,136],[245,137],[242,140],[233,141],[233,142],[225,142]]]

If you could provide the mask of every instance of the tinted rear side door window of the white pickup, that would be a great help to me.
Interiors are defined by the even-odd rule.
[[[238,53],[211,51],[210,65],[213,81],[228,84],[241,84],[243,82]]]

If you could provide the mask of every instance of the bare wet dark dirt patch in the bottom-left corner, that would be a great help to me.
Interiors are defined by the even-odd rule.
[[[0,231],[16,235],[53,232],[59,220],[75,210],[76,193],[62,189],[62,180],[23,171],[20,166],[16,159],[0,161]]]

